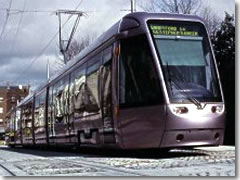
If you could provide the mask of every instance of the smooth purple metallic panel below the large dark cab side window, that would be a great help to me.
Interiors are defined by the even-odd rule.
[[[125,149],[158,148],[165,128],[164,106],[120,110],[117,120]]]

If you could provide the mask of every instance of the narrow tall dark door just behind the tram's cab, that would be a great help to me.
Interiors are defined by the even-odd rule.
[[[103,142],[114,143],[114,127],[112,116],[112,46],[103,52],[101,68],[101,106],[103,122]]]

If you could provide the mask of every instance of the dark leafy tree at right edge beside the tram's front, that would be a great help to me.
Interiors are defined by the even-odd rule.
[[[212,37],[213,48],[223,86],[226,116],[225,144],[235,144],[235,25],[228,13],[220,29]]]

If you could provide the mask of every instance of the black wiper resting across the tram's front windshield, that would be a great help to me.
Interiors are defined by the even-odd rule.
[[[202,109],[201,103],[196,98],[187,94],[185,92],[185,90],[174,79],[171,78],[171,72],[170,72],[170,69],[169,69],[169,66],[168,66],[168,62],[167,62],[167,72],[168,72],[168,82],[170,84],[171,92],[173,93],[172,84],[174,84],[175,87],[179,90],[179,92],[182,95],[184,95],[190,102],[192,102],[193,104],[195,104],[197,106],[197,109]]]

